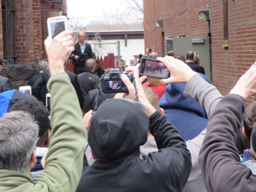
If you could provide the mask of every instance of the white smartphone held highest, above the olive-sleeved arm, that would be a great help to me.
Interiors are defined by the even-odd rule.
[[[47,19],[48,35],[53,39],[60,32],[68,30],[67,16],[55,16]]]

